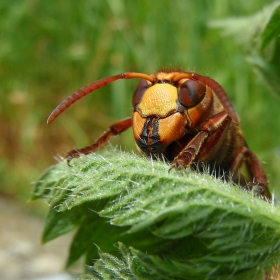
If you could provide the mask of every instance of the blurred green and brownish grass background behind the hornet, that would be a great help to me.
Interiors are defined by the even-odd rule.
[[[209,25],[255,14],[273,2],[1,1],[1,195],[24,205],[31,183],[58,155],[92,143],[112,122],[130,115],[138,81],[100,89],[48,126],[49,113],[69,94],[105,76],[178,66],[222,84],[250,148],[265,162],[270,186],[280,193],[279,96],[255,74],[248,50]],[[112,141],[118,143],[134,149],[131,130]]]

